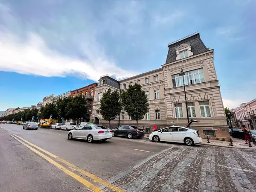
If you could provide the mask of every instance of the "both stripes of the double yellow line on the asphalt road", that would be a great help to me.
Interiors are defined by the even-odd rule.
[[[80,177],[79,175],[76,175],[75,173],[71,172],[70,170],[66,169],[64,166],[62,166],[61,164],[57,163],[56,161],[52,160],[51,158],[49,158],[48,156],[46,156],[45,154],[48,154],[50,157],[60,161],[61,163],[64,163],[65,165],[69,166],[71,169],[76,170],[84,175],[86,175],[87,177],[90,177],[91,179],[95,180],[96,182],[108,187],[109,189],[115,191],[115,192],[125,192],[122,189],[119,189],[116,186],[113,186],[111,183],[106,182],[105,180],[102,180],[99,177],[96,177],[95,175],[84,171],[83,169],[78,168],[77,166],[74,166],[73,164],[67,162],[64,159],[61,159],[60,157],[56,156],[55,154],[50,153],[49,151],[46,151],[30,142],[28,142],[27,140],[24,140],[23,138],[17,136],[17,135],[11,135],[13,138],[15,138],[18,142],[22,143],[23,145],[25,145],[27,148],[29,148],[30,150],[34,151],[36,154],[40,155],[41,157],[43,157],[44,159],[46,159],[47,161],[49,161],[50,163],[52,163],[53,165],[55,165],[56,167],[58,167],[58,169],[61,169],[64,173],[66,173],[67,175],[70,175],[71,177],[73,177],[74,179],[78,180],[80,183],[84,184],[85,186],[87,186],[89,189],[95,191],[95,192],[101,192],[102,190],[93,185],[92,183],[90,183],[89,181],[85,180],[84,178]],[[25,142],[25,143],[24,143]],[[31,145],[31,146],[30,146]],[[35,148],[39,149],[40,151],[44,152],[45,154],[41,153],[40,151],[36,150]]]

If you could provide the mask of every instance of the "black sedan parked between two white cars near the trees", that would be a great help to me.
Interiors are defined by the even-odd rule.
[[[144,130],[134,125],[122,125],[112,130],[112,137],[125,136],[131,139],[133,137],[140,138],[143,137],[144,135]]]

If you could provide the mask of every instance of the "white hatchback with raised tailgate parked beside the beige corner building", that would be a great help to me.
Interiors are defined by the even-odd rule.
[[[186,145],[202,143],[202,138],[197,130],[177,126],[166,127],[159,131],[154,131],[149,135],[149,139],[154,142],[167,141],[185,143]]]

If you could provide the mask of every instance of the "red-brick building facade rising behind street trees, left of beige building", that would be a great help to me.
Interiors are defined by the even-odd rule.
[[[92,83],[89,84],[85,87],[76,89],[76,90],[72,90],[70,91],[70,96],[71,97],[76,97],[76,96],[84,96],[87,99],[87,119],[86,121],[90,122],[92,120],[92,111],[93,111],[93,98],[94,98],[94,94],[95,94],[95,87],[97,86],[97,83]]]

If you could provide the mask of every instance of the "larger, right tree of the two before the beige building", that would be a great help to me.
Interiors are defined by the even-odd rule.
[[[124,110],[131,116],[132,120],[143,119],[148,111],[148,98],[140,84],[129,85],[126,91],[122,90],[121,101]]]

